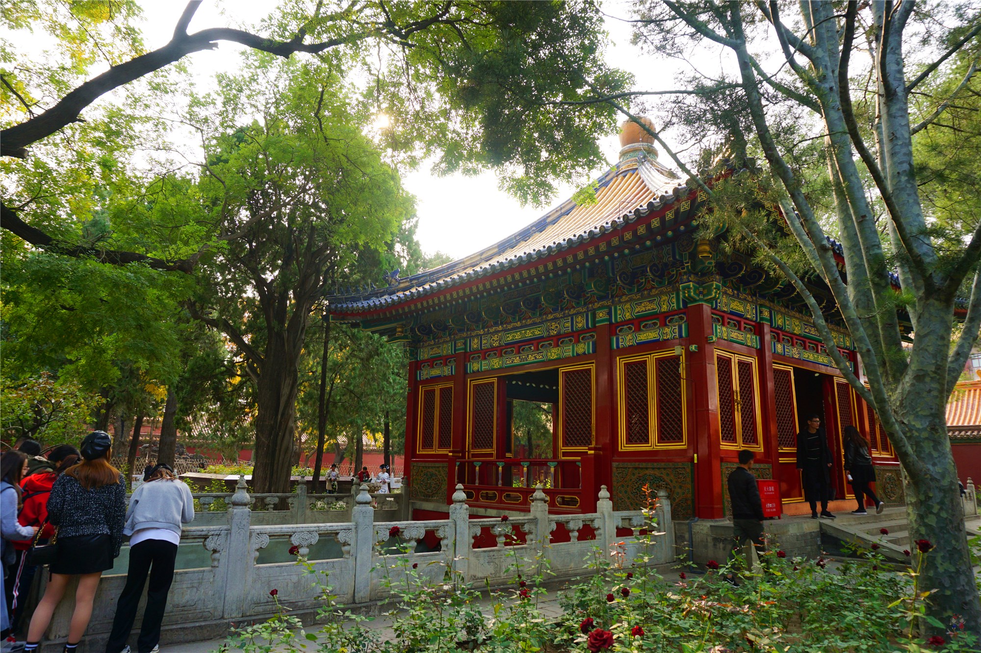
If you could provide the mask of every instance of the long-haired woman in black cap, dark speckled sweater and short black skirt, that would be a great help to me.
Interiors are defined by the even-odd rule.
[[[55,480],[48,497],[48,522],[58,527],[58,552],[27,629],[26,653],[37,649],[69,580],[77,577],[75,612],[65,645],[66,653],[75,653],[92,617],[99,578],[112,569],[123,545],[126,480],[109,463],[112,439],[105,431],[93,430],[78,448],[82,461]]]

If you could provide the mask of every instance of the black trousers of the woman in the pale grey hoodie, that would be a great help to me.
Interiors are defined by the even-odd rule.
[[[178,545],[162,539],[144,539],[129,549],[126,587],[116,604],[116,617],[113,619],[113,631],[106,642],[106,653],[120,653],[126,646],[147,574],[150,586],[146,590],[146,609],[143,610],[136,650],[149,653],[160,643],[160,623],[164,621],[167,592],[174,581],[174,561],[177,557]]]

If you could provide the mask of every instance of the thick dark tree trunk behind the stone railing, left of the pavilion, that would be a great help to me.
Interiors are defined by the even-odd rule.
[[[281,332],[266,348],[262,374],[256,380],[255,492],[289,492],[296,420],[296,356],[287,353]]]

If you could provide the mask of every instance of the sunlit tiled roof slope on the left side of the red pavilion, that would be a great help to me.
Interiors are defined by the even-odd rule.
[[[485,249],[433,270],[389,281],[387,287],[329,297],[332,313],[376,311],[543,259],[648,215],[687,195],[678,176],[642,152],[595,181],[595,201],[567,199],[529,226]]]

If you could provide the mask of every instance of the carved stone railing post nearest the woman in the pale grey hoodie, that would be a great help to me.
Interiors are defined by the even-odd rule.
[[[252,566],[257,549],[252,546],[249,527],[252,525],[250,497],[245,477],[239,476],[235,493],[229,500],[229,540],[218,561],[219,575],[224,579],[224,618],[239,619],[245,614],[245,595],[252,579]],[[266,535],[268,543],[269,536]],[[222,586],[222,585],[219,585]]]

